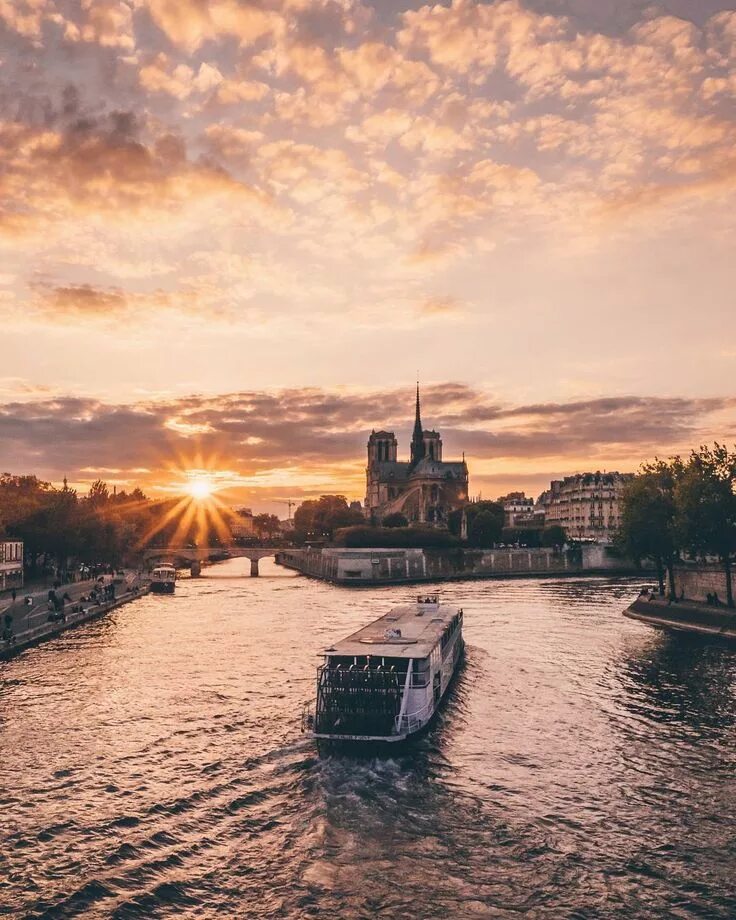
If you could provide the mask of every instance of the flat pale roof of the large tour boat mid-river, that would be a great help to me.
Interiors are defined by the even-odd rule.
[[[384,658],[426,658],[442,637],[459,607],[436,598],[417,598],[414,604],[394,607],[357,632],[325,649],[326,655],[377,655]],[[393,632],[400,635],[392,635]]]

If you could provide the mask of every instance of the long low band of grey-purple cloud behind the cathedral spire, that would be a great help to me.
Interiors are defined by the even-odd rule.
[[[448,382],[425,387],[422,405],[425,424],[443,435],[445,455],[467,453],[471,482],[475,474],[523,484],[530,467],[537,482],[545,469],[549,476],[615,463],[635,469],[655,454],[736,437],[733,398],[514,406]],[[287,482],[359,496],[370,430],[395,429],[404,455],[412,420],[409,389],[252,390],[119,405],[29,394],[0,409],[0,465],[75,482],[95,478],[90,469],[114,469],[121,471],[116,481],[155,491],[170,487],[176,470],[196,457],[210,457],[215,469],[229,471],[239,495],[259,501]]]

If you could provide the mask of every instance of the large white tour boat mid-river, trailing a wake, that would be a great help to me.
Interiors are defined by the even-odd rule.
[[[461,609],[421,596],[325,649],[314,737],[395,743],[421,732],[462,659],[462,630]]]

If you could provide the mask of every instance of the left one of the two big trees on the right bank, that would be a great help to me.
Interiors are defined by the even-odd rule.
[[[665,591],[665,572],[670,596],[675,593],[674,564],[679,549],[675,489],[681,476],[679,457],[655,459],[642,464],[623,493],[616,543],[635,561],[650,559],[654,563],[660,595]]]

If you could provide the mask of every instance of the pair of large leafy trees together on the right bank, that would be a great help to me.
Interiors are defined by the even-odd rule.
[[[686,459],[644,463],[626,486],[617,542],[634,559],[654,563],[660,595],[667,590],[675,596],[674,567],[683,557],[717,559],[726,576],[726,603],[734,606],[735,489],[736,453],[718,443]]]

